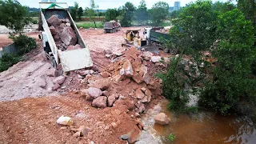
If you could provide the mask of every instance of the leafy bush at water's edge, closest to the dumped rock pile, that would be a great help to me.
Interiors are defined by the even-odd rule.
[[[182,60],[182,57],[174,58],[167,73],[158,74],[158,77],[162,79],[163,95],[170,100],[168,104],[170,110],[180,112],[188,110],[186,106],[190,100],[188,85],[192,84],[195,79],[190,78],[186,64],[187,62]]]

